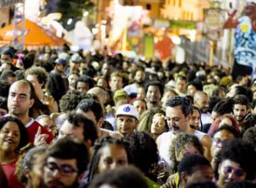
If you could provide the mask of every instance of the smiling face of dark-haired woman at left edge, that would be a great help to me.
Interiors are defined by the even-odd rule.
[[[15,122],[7,122],[0,130],[0,148],[15,151],[20,144],[20,129]]]

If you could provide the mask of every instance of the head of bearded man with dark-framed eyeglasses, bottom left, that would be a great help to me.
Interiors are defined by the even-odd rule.
[[[46,150],[44,187],[78,187],[89,162],[86,145],[75,138],[57,140]]]

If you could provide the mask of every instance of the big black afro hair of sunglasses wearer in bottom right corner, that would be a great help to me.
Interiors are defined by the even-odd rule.
[[[256,164],[256,152],[253,144],[241,138],[227,140],[215,158],[214,177],[216,179],[218,179],[219,165],[224,160],[232,160],[240,164],[246,172],[246,180],[255,179],[256,171],[252,164]]]

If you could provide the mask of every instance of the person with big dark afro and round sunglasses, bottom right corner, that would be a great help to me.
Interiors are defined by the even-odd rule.
[[[232,181],[253,180],[256,152],[253,144],[236,138],[227,140],[215,158],[214,178],[219,188]]]

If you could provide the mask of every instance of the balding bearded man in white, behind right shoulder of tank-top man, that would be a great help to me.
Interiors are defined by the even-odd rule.
[[[194,105],[197,106],[201,111],[200,128],[202,127],[203,124],[211,124],[212,117],[211,117],[211,113],[208,112],[210,99],[207,93],[203,91],[197,91],[197,93],[195,93],[194,95],[193,101],[194,101]]]

